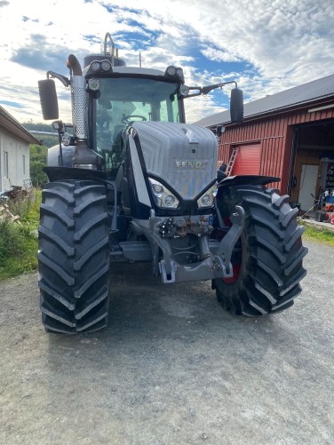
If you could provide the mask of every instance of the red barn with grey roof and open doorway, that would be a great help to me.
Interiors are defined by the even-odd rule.
[[[222,126],[219,163],[236,153],[232,175],[280,177],[272,186],[303,211],[334,191],[334,75],[245,104],[243,124],[230,123],[228,111],[196,124]]]

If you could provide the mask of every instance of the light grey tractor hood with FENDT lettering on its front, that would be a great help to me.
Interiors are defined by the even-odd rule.
[[[168,122],[136,122],[132,129],[143,170],[183,199],[195,199],[217,178],[218,144],[210,130]]]

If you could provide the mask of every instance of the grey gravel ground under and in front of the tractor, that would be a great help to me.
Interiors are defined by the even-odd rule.
[[[334,249],[306,245],[302,295],[262,319],[117,266],[107,329],[50,335],[37,275],[0,282],[0,443],[334,443]]]

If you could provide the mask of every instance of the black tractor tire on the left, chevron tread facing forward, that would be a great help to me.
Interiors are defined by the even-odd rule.
[[[84,180],[46,185],[38,266],[45,330],[71,334],[107,325],[110,255],[104,186]]]

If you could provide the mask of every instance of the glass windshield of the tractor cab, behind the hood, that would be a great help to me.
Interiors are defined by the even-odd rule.
[[[133,77],[100,78],[95,102],[94,147],[107,170],[123,159],[124,128],[135,121],[180,122],[179,83]]]

